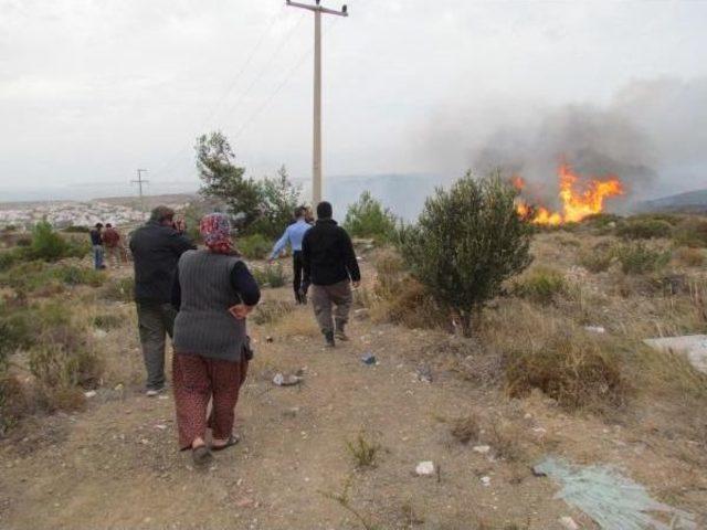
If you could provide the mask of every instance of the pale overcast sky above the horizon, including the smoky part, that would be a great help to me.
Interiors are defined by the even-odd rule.
[[[707,187],[707,1],[348,8],[324,19],[325,179],[461,176],[495,157],[540,173],[539,151],[588,142],[648,168],[654,194]],[[150,193],[196,189],[193,144],[215,129],[249,174],[285,165],[308,180],[312,13],[284,0],[0,0],[0,200],[134,193],[137,168]]]

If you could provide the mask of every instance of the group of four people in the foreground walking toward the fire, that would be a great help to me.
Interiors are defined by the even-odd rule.
[[[351,285],[360,282],[354,246],[334,221],[328,202],[317,205],[314,223],[304,206],[294,215],[270,261],[291,246],[295,299],[307,304],[312,290],[325,344],[335,347],[336,340],[348,340]],[[246,317],[261,293],[238,253],[226,215],[211,213],[201,220],[204,248],[198,250],[183,229],[175,222],[173,210],[158,206],[130,237],[130,251],[146,394],[165,390],[165,347],[170,336],[179,447],[191,451],[194,464],[203,465],[213,452],[239,442],[233,433],[234,410],[253,358]]]

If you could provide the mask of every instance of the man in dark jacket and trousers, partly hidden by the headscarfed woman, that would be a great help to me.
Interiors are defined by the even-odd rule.
[[[196,248],[175,226],[175,211],[157,206],[150,220],[130,237],[135,303],[149,396],[165,388],[165,336],[172,336],[177,316],[171,305],[177,262],[184,252]]]

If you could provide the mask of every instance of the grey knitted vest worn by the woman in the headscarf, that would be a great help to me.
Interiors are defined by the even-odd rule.
[[[187,251],[179,259],[181,308],[175,320],[175,351],[239,361],[246,337],[245,320],[229,312],[241,303],[231,286],[240,259],[209,251]]]

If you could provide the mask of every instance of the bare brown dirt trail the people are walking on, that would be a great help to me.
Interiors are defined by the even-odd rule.
[[[309,310],[294,317],[309,318]],[[376,528],[553,529],[562,516],[594,528],[555,500],[555,486],[527,463],[492,462],[452,437],[449,421],[472,410],[514,418],[523,443],[539,436],[538,421],[551,438],[567,418],[537,400],[505,402],[442,370],[421,382],[415,368],[433,335],[356,321],[354,340],[330,351],[313,335],[286,340],[277,326],[251,330],[257,353],[238,407],[242,443],[218,454],[210,469],[192,469],[189,455],[177,452],[171,395],[99,393],[83,413],[43,421],[36,439],[0,448],[0,528],[362,528],[324,495],[347,480],[351,507]],[[137,356],[135,347],[125,340],[122,354]],[[361,363],[367,351],[380,364]],[[272,384],[274,371],[300,368],[302,386]],[[382,451],[376,468],[356,471],[346,441],[361,431]],[[636,457],[635,444],[612,444],[599,422],[585,421],[574,436],[589,441],[587,453],[610,447],[615,458]],[[440,465],[440,476],[414,476],[421,460]]]

